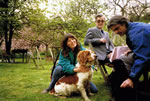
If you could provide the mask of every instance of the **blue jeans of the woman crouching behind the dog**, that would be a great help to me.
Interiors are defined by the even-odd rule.
[[[62,76],[64,76],[64,72],[62,70],[61,66],[56,66],[56,68],[54,69],[53,75],[52,75],[52,80],[50,82],[49,87],[47,88],[48,91],[52,90],[55,86],[55,83],[59,80],[59,78],[61,78]],[[96,88],[96,86],[90,82],[90,90],[91,93],[97,93],[98,89]]]

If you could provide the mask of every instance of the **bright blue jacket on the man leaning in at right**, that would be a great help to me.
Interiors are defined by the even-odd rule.
[[[150,24],[129,22],[126,35],[127,45],[135,54],[129,77],[136,78],[150,62]]]

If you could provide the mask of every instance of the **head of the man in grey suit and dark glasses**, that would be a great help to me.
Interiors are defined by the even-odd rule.
[[[99,28],[99,29],[102,29],[103,26],[104,26],[104,22],[105,22],[105,18],[103,15],[99,14],[95,17],[95,23],[96,23],[96,26]]]

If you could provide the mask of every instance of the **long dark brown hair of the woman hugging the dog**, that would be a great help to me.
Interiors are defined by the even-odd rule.
[[[72,35],[72,34],[66,34],[64,36],[64,38],[62,39],[62,41],[61,41],[62,54],[65,57],[67,57],[68,54],[69,54],[69,51],[71,50],[71,48],[69,48],[67,46],[68,38],[74,38],[76,40],[76,42],[77,42],[77,46],[75,47],[75,49],[73,51],[74,55],[76,56],[78,54],[78,52],[80,51],[80,43],[78,42],[77,38],[74,35]]]

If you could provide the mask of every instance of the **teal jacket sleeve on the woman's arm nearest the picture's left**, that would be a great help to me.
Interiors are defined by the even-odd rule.
[[[66,74],[74,74],[75,66],[71,64],[71,60],[68,57],[64,57],[62,53],[60,53],[58,65],[63,67],[63,72]]]

